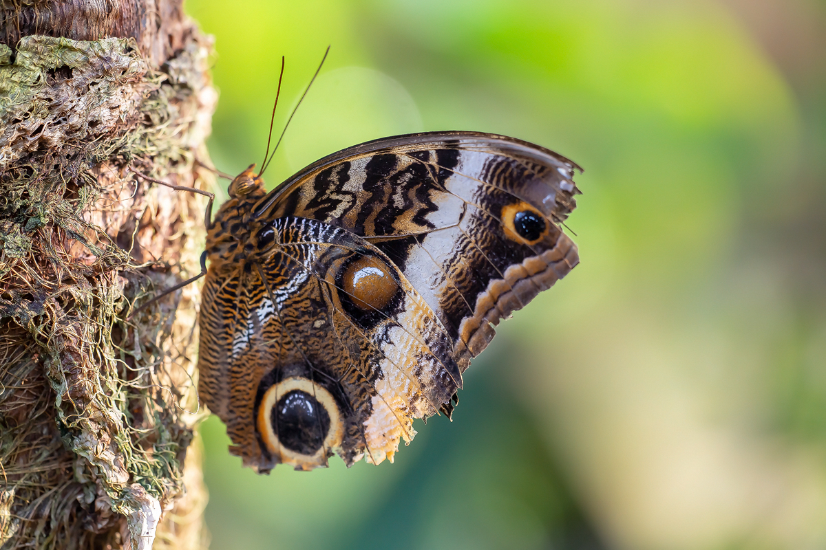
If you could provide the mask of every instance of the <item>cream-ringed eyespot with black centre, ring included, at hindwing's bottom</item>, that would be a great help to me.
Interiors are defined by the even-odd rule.
[[[335,398],[307,378],[285,378],[268,388],[257,420],[270,454],[296,469],[325,466],[344,435]]]

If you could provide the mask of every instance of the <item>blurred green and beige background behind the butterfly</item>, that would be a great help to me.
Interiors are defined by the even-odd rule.
[[[271,185],[470,129],[585,167],[582,264],[396,463],[276,468],[202,425],[211,548],[826,548],[826,3],[188,0],[210,151]]]

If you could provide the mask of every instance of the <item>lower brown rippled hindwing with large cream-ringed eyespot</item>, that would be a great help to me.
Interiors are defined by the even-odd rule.
[[[363,238],[289,216],[262,232],[272,242],[262,261],[207,275],[202,399],[259,471],[325,466],[333,453],[348,464],[392,459],[415,435],[413,418],[461,388],[443,327]],[[382,292],[343,280],[359,269],[380,271],[371,288]]]

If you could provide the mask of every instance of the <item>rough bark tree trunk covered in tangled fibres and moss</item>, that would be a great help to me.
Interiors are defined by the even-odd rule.
[[[181,0],[0,0],[0,547],[202,548],[211,43]],[[186,466],[184,467],[184,463]]]

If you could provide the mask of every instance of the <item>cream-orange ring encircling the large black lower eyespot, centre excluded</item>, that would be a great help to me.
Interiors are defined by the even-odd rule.
[[[324,442],[320,449],[316,451],[316,454],[301,454],[284,447],[278,440],[278,435],[276,435],[273,425],[269,421],[270,411],[278,403],[278,399],[293,390],[299,390],[315,397],[316,401],[325,408],[330,416],[330,429],[327,430]],[[302,470],[326,466],[328,456],[326,451],[338,449],[344,438],[344,422],[341,420],[341,411],[339,411],[339,406],[335,402],[333,394],[319,384],[298,376],[284,378],[281,382],[268,388],[259,405],[257,424],[261,439],[267,445],[270,454],[277,457],[281,463],[292,464]]]

